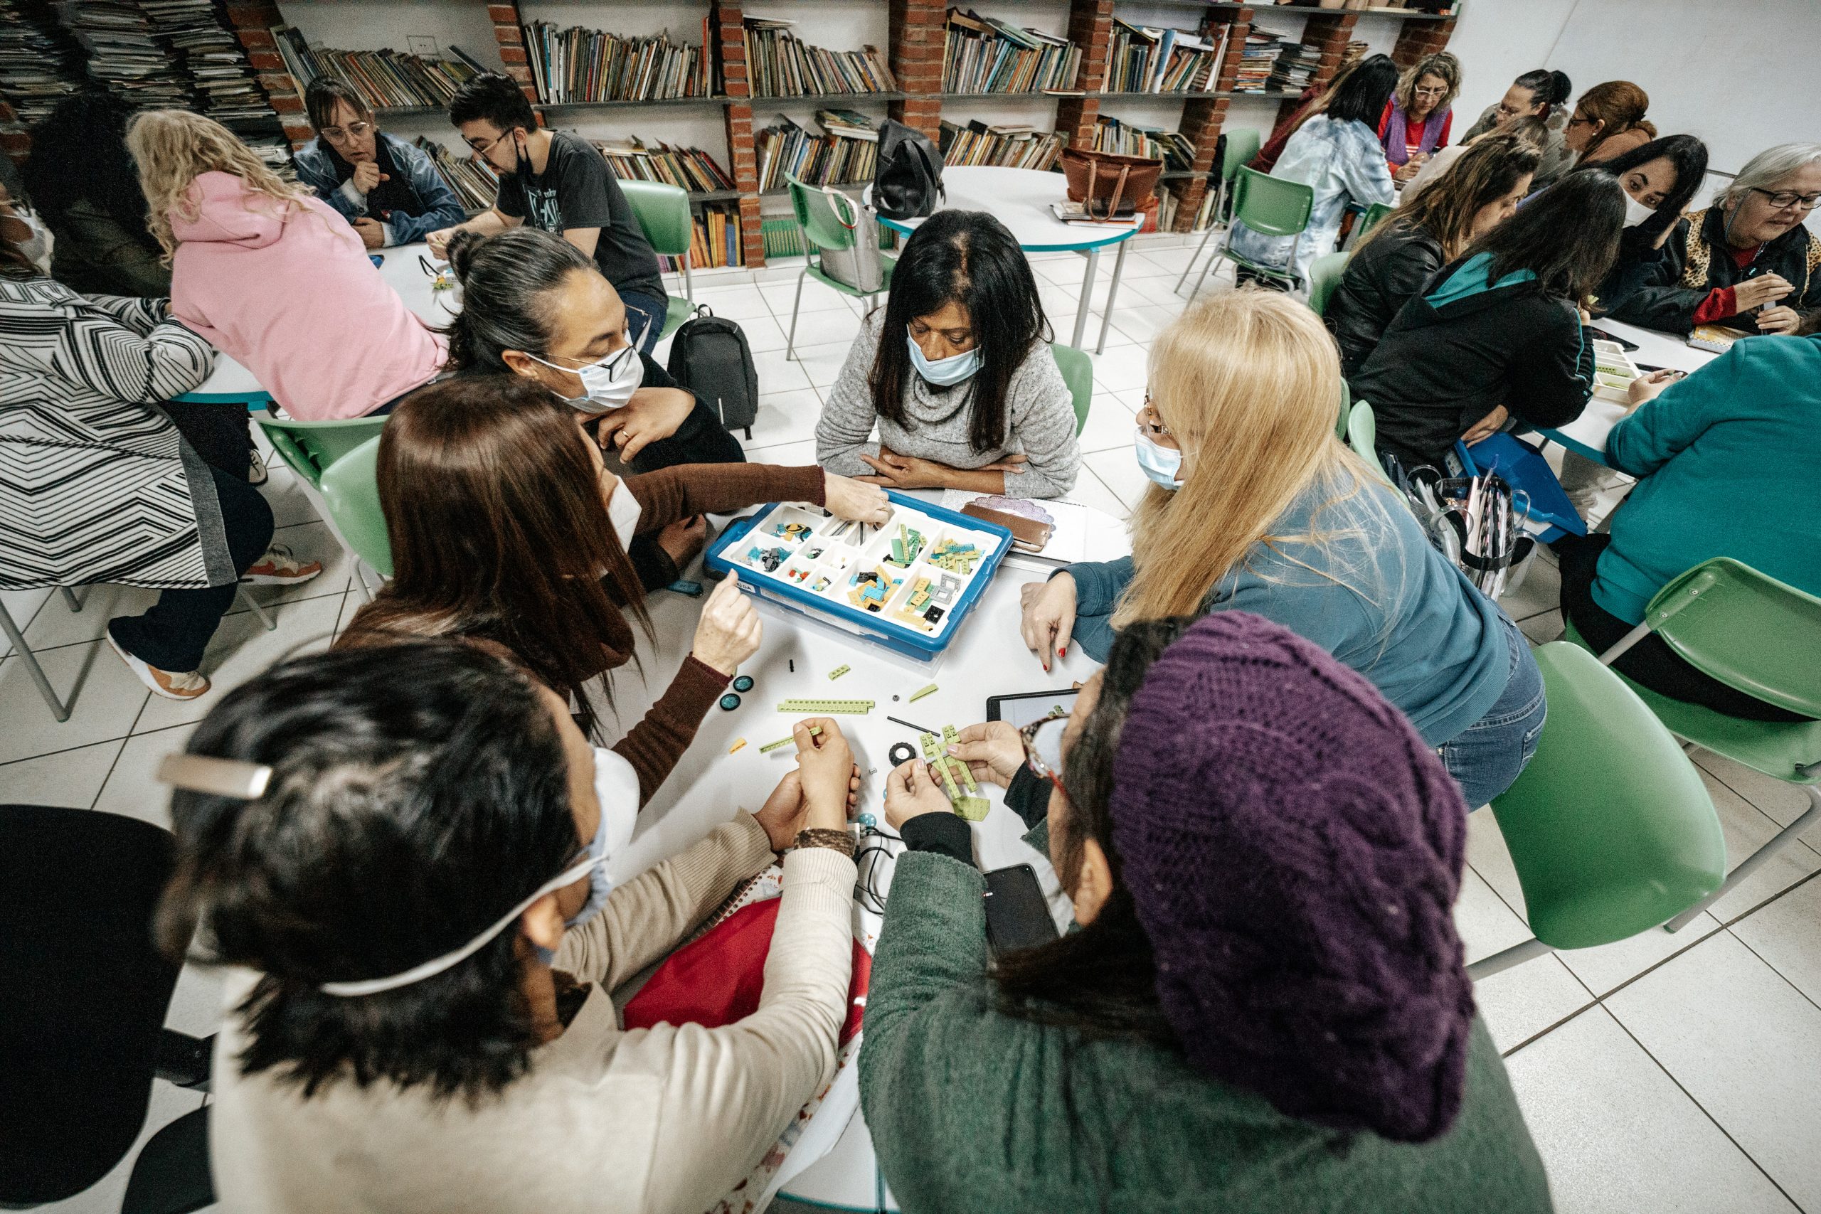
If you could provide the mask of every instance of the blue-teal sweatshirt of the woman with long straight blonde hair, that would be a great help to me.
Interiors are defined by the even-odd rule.
[[[1253,612],[1313,641],[1369,679],[1422,741],[1440,746],[1486,712],[1511,677],[1506,628],[1515,628],[1429,544],[1388,486],[1348,495],[1306,490],[1209,593],[1207,612]],[[1109,615],[1133,579],[1133,561],[1071,564],[1078,617]],[[1093,632],[1078,633],[1085,644]]]

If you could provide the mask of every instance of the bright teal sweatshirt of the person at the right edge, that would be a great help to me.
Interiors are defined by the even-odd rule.
[[[1593,579],[1619,619],[1708,557],[1821,595],[1821,335],[1734,342],[1613,426],[1606,462],[1639,479]]]

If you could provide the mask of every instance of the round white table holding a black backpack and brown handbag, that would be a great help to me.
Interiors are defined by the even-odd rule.
[[[1125,242],[1140,228],[1144,217],[1134,217],[1129,224],[1063,224],[1049,209],[1053,202],[1065,202],[1069,180],[1062,173],[1047,169],[1002,169],[996,166],[956,166],[941,171],[941,184],[947,189],[943,209],[987,211],[1005,224],[1025,253],[1080,253],[1087,258],[1087,273],[1082,277],[1082,302],[1074,309],[1074,337],[1069,344],[1082,348],[1082,333],[1087,331],[1087,311],[1094,293],[1094,275],[1100,269],[1100,249],[1109,244],[1120,246],[1120,255],[1113,262],[1113,284],[1107,289],[1107,309],[1100,317],[1100,344],[1094,353],[1107,348],[1107,322],[1113,317],[1113,300],[1120,293],[1120,273],[1125,269]],[[872,200],[872,187],[867,187],[867,200]],[[885,218],[880,222],[892,231],[909,237],[923,222],[921,218]]]

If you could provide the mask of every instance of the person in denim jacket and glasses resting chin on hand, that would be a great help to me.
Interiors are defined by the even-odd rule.
[[[366,248],[415,244],[468,218],[430,157],[382,133],[351,87],[317,76],[304,109],[317,137],[297,151],[297,180],[341,211]]]

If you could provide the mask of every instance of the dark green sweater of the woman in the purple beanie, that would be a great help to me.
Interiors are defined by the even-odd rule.
[[[872,963],[860,1094],[907,1214],[1548,1212],[1504,1063],[1475,1021],[1453,1128],[1409,1147],[1286,1118],[1165,1050],[992,1008],[985,881],[907,852]]]

